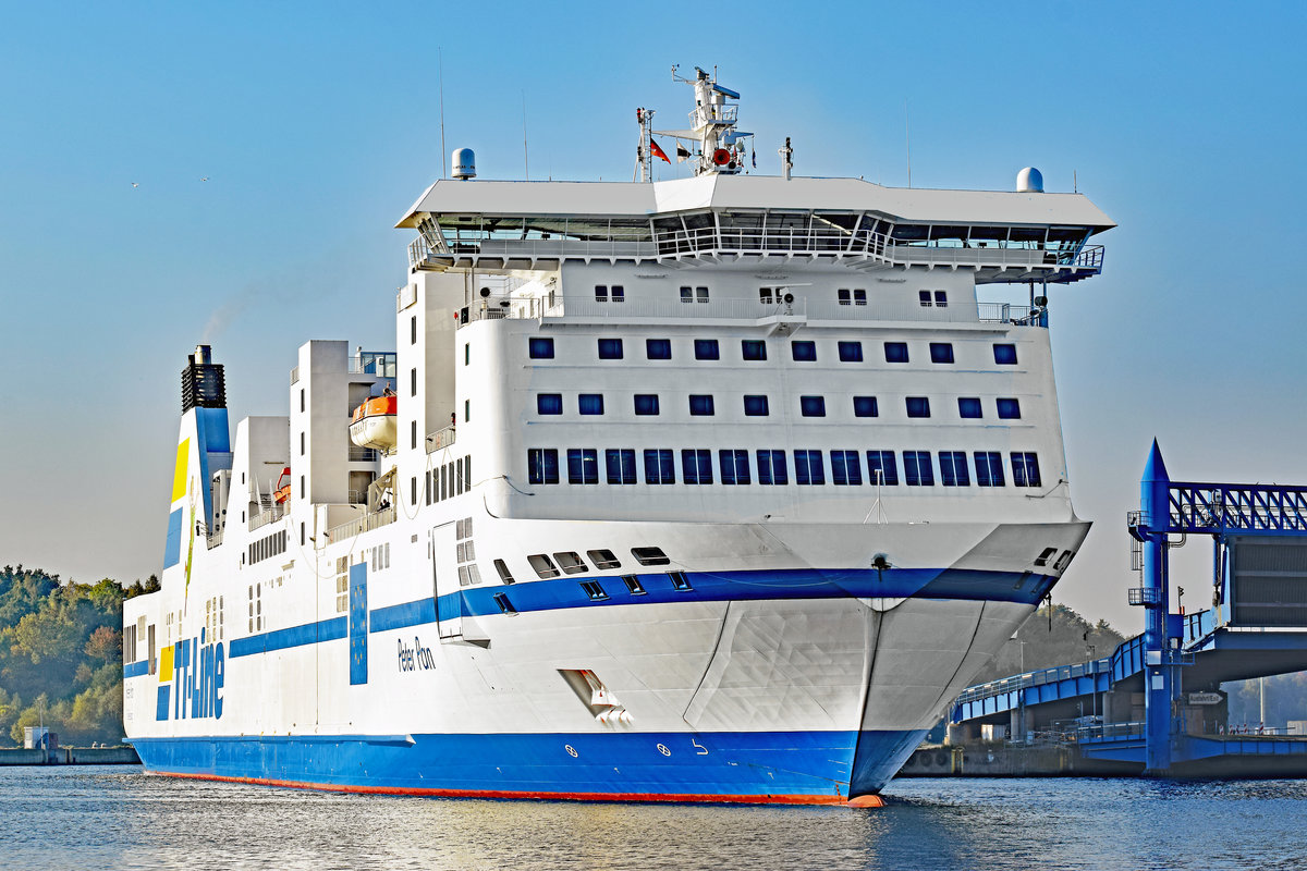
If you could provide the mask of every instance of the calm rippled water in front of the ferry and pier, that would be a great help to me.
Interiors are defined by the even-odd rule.
[[[906,780],[876,810],[433,800],[0,768],[0,868],[1300,868],[1307,782]]]

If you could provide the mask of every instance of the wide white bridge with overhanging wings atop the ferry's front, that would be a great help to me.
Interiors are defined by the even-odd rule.
[[[559,206],[566,206],[566,212]],[[554,269],[563,260],[968,269],[976,283],[1102,272],[1115,225],[1078,193],[923,191],[860,179],[433,184],[397,225],[413,269]]]

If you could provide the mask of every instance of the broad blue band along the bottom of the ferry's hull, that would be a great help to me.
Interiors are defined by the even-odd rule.
[[[569,798],[850,797],[893,777],[919,731],[136,738],[153,772],[311,785]],[[409,743],[412,740],[412,743]]]

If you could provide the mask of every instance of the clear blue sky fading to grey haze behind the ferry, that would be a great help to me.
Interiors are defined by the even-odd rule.
[[[618,10],[621,9],[621,12]],[[308,338],[395,343],[404,209],[484,178],[630,179],[669,67],[744,94],[758,170],[1051,191],[1119,229],[1052,295],[1072,487],[1057,599],[1134,631],[1124,515],[1175,478],[1307,482],[1303,4],[31,4],[0,27],[0,560],[158,571],[186,354],[284,414]],[[201,182],[208,178],[208,182]],[[133,188],[132,183],[140,187]],[[1208,550],[1191,543],[1191,590]],[[1185,581],[1182,581],[1185,582]],[[1187,603],[1196,605],[1187,597]]]

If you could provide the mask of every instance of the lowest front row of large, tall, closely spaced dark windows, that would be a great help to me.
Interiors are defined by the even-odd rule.
[[[672,448],[648,448],[637,454],[634,448],[567,448],[567,483],[597,484],[600,471],[609,484],[638,484],[638,471],[643,467],[646,484],[674,484],[677,475],[676,451]],[[800,486],[819,486],[826,483],[827,452],[793,451],[793,465],[786,451],[754,451],[754,465],[749,464],[749,452],[742,448],[723,448],[718,452],[714,469],[712,451],[707,448],[682,448],[681,482],[686,484],[711,484],[714,471],[723,484],[750,484],[757,474],[759,484],[788,484],[791,467],[793,481]],[[904,451],[902,478],[899,458],[894,451],[867,451],[865,477],[864,453],[860,451],[830,451],[830,483],[835,486],[859,486],[865,483],[882,487],[897,487],[899,482],[908,487],[933,487],[936,481],[944,487],[970,487],[972,470],[975,486],[1004,487],[1008,483],[1002,453],[999,451],[975,451],[970,457],[966,451]],[[1008,454],[1012,470],[1012,486],[1039,487],[1039,457],[1031,451],[1013,451]],[[527,478],[533,484],[557,484],[561,482],[558,448],[531,448],[527,451]],[[936,477],[938,470],[938,478]]]

